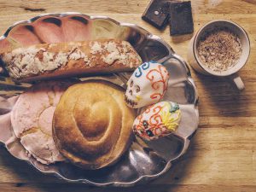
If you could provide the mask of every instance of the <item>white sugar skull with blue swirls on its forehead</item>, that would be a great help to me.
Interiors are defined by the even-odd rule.
[[[169,73],[163,65],[145,62],[127,82],[125,102],[131,108],[142,108],[160,102],[168,88]]]

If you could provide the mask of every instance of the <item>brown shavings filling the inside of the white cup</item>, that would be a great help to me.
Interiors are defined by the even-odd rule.
[[[197,44],[199,59],[212,71],[221,73],[234,67],[241,57],[241,40],[228,28],[206,32]]]

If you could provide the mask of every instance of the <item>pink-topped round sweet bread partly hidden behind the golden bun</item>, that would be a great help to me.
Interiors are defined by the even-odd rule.
[[[69,82],[42,82],[22,93],[11,113],[15,136],[29,155],[43,164],[65,160],[55,147],[52,120],[55,107]]]

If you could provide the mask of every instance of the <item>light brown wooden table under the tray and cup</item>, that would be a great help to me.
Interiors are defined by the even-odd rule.
[[[0,33],[15,21],[35,15],[76,11],[108,15],[135,23],[164,38],[186,58],[190,35],[169,36],[141,20],[148,0],[0,1]],[[191,70],[200,95],[200,126],[188,153],[170,172],[150,183],[128,189],[99,189],[63,183],[36,172],[0,148],[0,191],[256,191],[256,0],[193,0],[195,32],[215,19],[234,20],[249,34],[251,55],[241,72],[241,93],[227,79]],[[253,66],[255,64],[255,67]]]

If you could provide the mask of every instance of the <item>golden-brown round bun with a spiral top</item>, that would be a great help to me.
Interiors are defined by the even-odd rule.
[[[130,146],[135,112],[124,91],[104,81],[74,84],[61,96],[53,121],[57,148],[85,169],[112,165]]]

